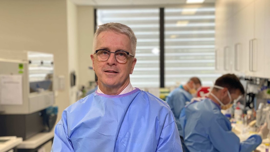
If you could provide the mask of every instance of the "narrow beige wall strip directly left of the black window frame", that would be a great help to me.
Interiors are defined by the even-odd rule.
[[[90,55],[93,53],[94,38],[94,7],[78,6],[78,48],[79,48],[79,87],[89,86],[89,81],[95,81],[95,72]]]

